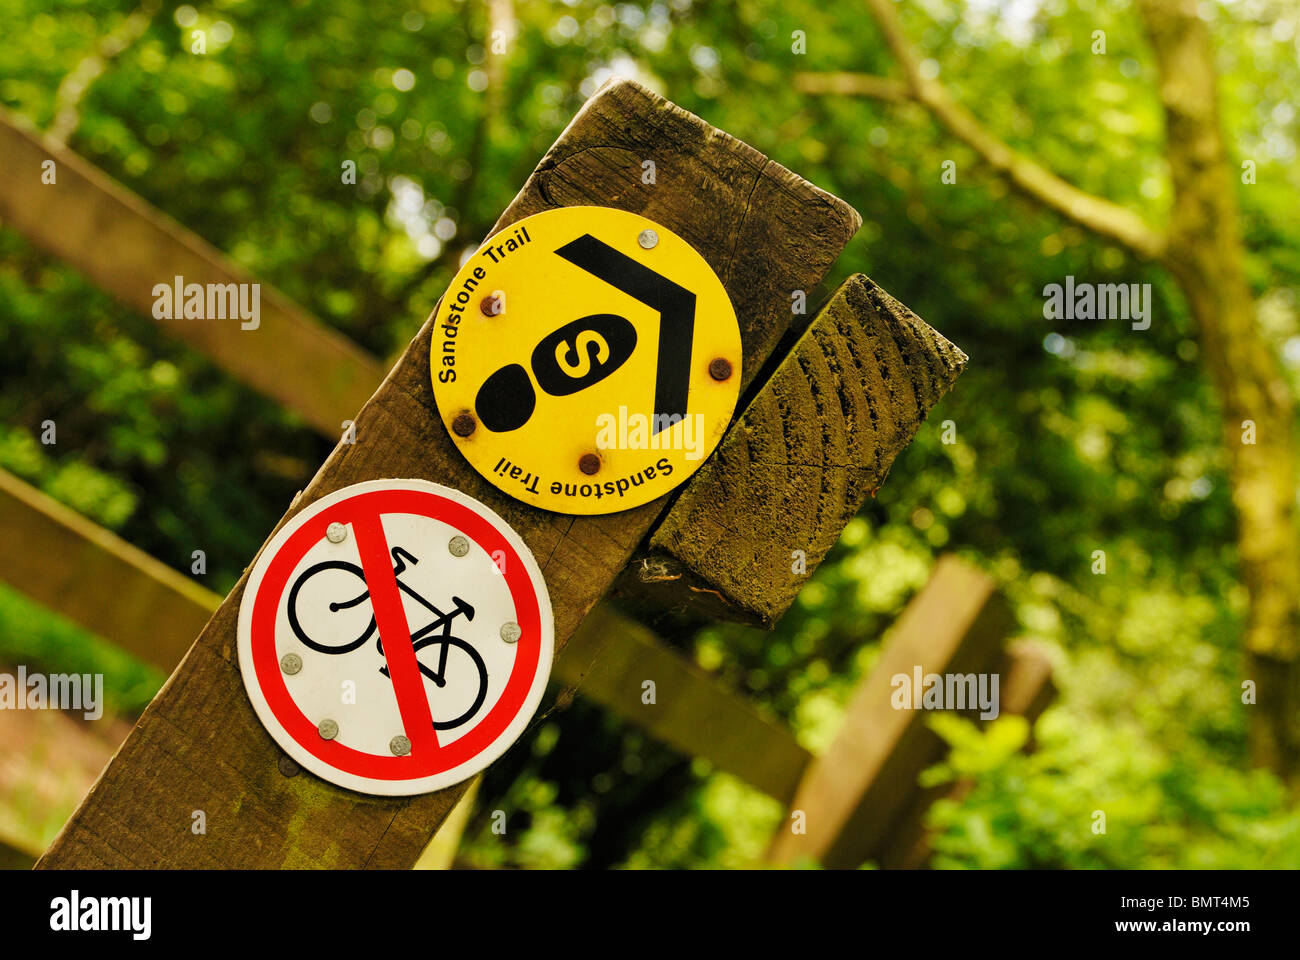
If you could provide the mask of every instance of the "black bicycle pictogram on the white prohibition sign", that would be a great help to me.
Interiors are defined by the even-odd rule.
[[[447,686],[448,671],[455,673],[455,680],[459,688],[464,688],[469,683],[467,676],[477,678],[476,686],[473,687],[476,692],[468,709],[464,709],[460,713],[452,712],[452,715],[446,718],[439,718],[436,713],[433,715],[434,730],[452,730],[472,719],[484,705],[484,700],[488,697],[488,665],[471,643],[452,635],[451,632],[456,618],[464,617],[467,622],[474,618],[474,607],[465,600],[452,594],[452,609],[443,613],[402,579],[402,574],[406,572],[407,565],[410,563],[413,566],[420,561],[400,546],[393,548],[391,557],[393,576],[396,580],[398,589],[433,614],[433,619],[429,623],[411,633],[411,645],[415,649],[416,663],[420,667],[420,673],[439,689]],[[348,596],[346,600],[332,600],[328,605],[303,601],[302,597],[304,594],[304,588],[312,581],[312,578],[320,578],[321,574],[326,574],[328,571],[342,571],[355,576],[360,581],[360,593],[356,593],[356,596]],[[335,589],[338,588],[335,587]],[[354,591],[355,589],[356,588],[354,588]],[[354,591],[344,591],[344,594],[352,593]],[[328,596],[328,592],[308,589],[306,591],[306,594],[312,600],[320,600],[321,596]],[[298,579],[294,580],[292,587],[290,587],[287,611],[289,626],[294,631],[294,636],[296,636],[304,647],[316,650],[317,653],[328,654],[351,653],[364,647],[373,636],[376,650],[384,663],[384,666],[380,667],[380,673],[389,676],[387,662],[384,656],[384,637],[378,636],[378,626],[376,623],[373,610],[370,611],[369,620],[361,627],[360,633],[355,637],[351,637],[350,632],[346,632],[346,627],[344,630],[334,628],[330,619],[322,615],[324,610],[328,610],[329,614],[338,614],[341,611],[360,609],[361,605],[369,600],[369,597],[370,591],[365,583],[365,571],[358,565],[350,563],[348,561],[321,561],[318,563],[313,563],[307,567],[307,570],[304,570]],[[307,609],[299,610],[300,602],[306,605]],[[303,619],[308,615],[311,617],[311,622],[326,624],[326,627],[321,630],[315,639],[308,635],[303,626]],[[343,626],[342,622],[341,626]],[[329,636],[330,640],[324,640],[326,636]],[[342,636],[344,639],[342,641],[334,641],[333,637],[337,636]],[[421,653],[430,648],[433,648],[433,653],[437,654],[436,667],[430,666],[426,660],[421,660]],[[456,652],[456,656],[450,658],[452,652]],[[430,697],[429,702],[430,712],[436,712],[438,705],[437,697]]]

